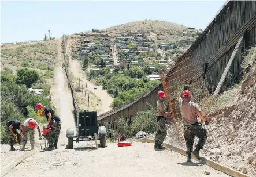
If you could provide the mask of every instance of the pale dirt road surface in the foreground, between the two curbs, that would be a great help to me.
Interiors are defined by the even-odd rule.
[[[80,143],[79,143],[80,144]],[[79,146],[36,153],[19,164],[6,177],[19,176],[228,176],[199,163],[184,163],[186,157],[169,150],[155,151],[153,144],[133,143],[131,147],[90,150]]]

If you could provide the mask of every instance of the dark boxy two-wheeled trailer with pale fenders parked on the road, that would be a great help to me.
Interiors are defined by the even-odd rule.
[[[102,148],[106,147],[107,131],[105,126],[99,126],[97,122],[97,112],[84,111],[78,114],[76,120],[76,135],[73,128],[66,130],[66,137],[68,138],[67,149],[73,148],[73,141],[95,141],[96,148],[98,149],[98,140]],[[87,145],[88,145],[87,143]]]

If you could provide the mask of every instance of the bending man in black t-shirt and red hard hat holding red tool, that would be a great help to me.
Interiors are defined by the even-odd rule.
[[[46,150],[57,149],[57,143],[61,131],[61,118],[54,114],[54,110],[50,107],[43,106],[41,103],[36,103],[36,109],[38,110],[38,115],[41,117],[46,117],[48,125],[50,125],[51,130],[49,136],[46,137],[46,140],[49,143],[49,146]]]

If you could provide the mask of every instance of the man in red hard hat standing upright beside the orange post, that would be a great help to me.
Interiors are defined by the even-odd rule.
[[[165,149],[162,147],[162,143],[167,135],[166,130],[166,116],[171,113],[166,112],[166,107],[164,103],[165,93],[163,91],[158,91],[158,101],[157,101],[157,122],[156,129],[157,133],[155,133],[155,149]]]

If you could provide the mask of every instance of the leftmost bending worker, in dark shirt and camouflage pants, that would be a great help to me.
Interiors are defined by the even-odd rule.
[[[23,129],[23,124],[21,124],[21,122],[18,121],[18,120],[9,120],[8,122],[6,122],[6,124],[5,124],[5,133],[8,136],[10,151],[15,151],[16,150],[13,147],[13,145],[15,144],[15,139],[16,138],[20,142],[20,139],[21,139],[20,136],[23,136],[23,135],[20,134],[18,130],[22,130],[22,129]]]

